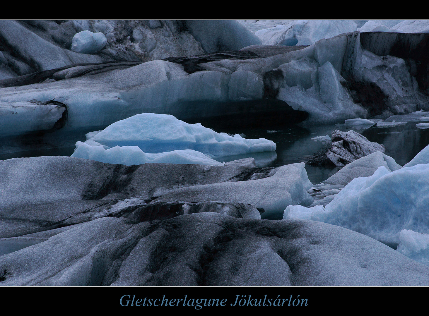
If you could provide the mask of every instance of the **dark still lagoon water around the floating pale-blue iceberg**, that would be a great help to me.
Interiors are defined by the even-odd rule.
[[[275,152],[252,153],[247,155],[228,156],[217,159],[220,162],[228,162],[236,159],[254,157],[258,167],[278,167],[290,163],[307,162],[310,157],[323,146],[322,142],[314,141],[311,138],[317,136],[331,135],[335,129],[348,131],[353,129],[364,135],[369,141],[378,142],[386,147],[386,154],[393,157],[396,163],[403,166],[417,155],[420,150],[429,144],[429,129],[418,129],[416,122],[409,122],[404,125],[394,127],[376,127],[368,129],[358,129],[344,124],[328,124],[313,126],[287,126],[281,129],[230,129],[217,130],[217,132],[227,132],[230,134],[244,133],[245,138],[267,138],[277,144]],[[103,129],[106,126],[100,126]],[[79,132],[57,132],[44,137],[45,141],[54,146],[47,146],[34,150],[25,150],[11,153],[0,153],[0,160],[16,157],[33,156],[70,156],[75,149],[76,141],[85,141],[85,133],[92,132],[94,128]],[[29,142],[31,139],[29,140]],[[13,146],[13,144],[12,144]],[[12,147],[10,146],[10,147]],[[56,148],[52,148],[56,147]],[[326,180],[340,167],[323,168],[316,166],[305,166],[308,178],[313,184],[318,184]]]

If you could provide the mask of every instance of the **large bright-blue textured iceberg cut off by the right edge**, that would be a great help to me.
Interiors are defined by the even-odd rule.
[[[429,233],[428,178],[429,164],[393,172],[381,166],[370,177],[350,181],[324,211],[314,211],[311,219],[397,245],[403,229]]]

